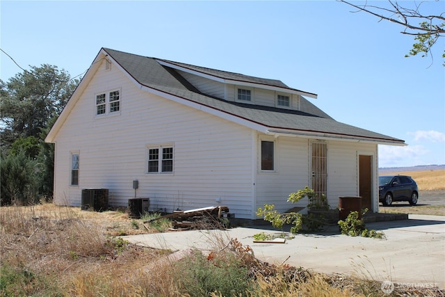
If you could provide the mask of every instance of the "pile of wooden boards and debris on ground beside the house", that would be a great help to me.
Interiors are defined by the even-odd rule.
[[[174,211],[172,214],[145,220],[144,223],[152,223],[154,220],[160,220],[161,218],[170,218],[172,220],[170,231],[225,229],[227,226],[221,218],[229,215],[229,207],[204,207],[187,211]]]

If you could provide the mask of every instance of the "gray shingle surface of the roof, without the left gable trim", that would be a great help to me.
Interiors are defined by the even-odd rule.
[[[243,74],[232,72],[223,72],[212,70],[205,67],[177,63],[135,54],[127,54],[113,49],[104,49],[120,66],[126,70],[138,83],[149,88],[159,90],[183,99],[208,106],[224,113],[235,115],[260,125],[268,129],[286,129],[293,130],[298,134],[300,132],[315,132],[322,134],[331,134],[330,137],[339,138],[367,138],[370,141],[383,141],[390,143],[404,142],[400,139],[378,134],[373,131],[361,129],[351,125],[337,122],[329,115],[318,109],[314,104],[302,97],[300,101],[300,111],[291,111],[268,106],[258,106],[252,104],[241,104],[237,102],[227,102],[224,99],[211,97],[200,93],[195,87],[188,83],[184,77],[181,77],[174,69],[159,64],[156,60],[174,63],[181,67],[200,71],[206,74],[215,75],[225,79],[234,79],[239,81],[249,81],[253,83],[265,84],[269,86],[285,87],[281,81],[273,79],[260,79],[249,77]],[[293,89],[295,90],[295,89]]]

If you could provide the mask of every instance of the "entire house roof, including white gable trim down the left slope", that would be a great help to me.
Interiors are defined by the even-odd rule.
[[[303,136],[312,138],[334,138],[348,141],[369,141],[373,143],[389,144],[389,145],[405,145],[404,141],[378,134],[373,131],[361,129],[351,125],[337,122],[325,112],[318,109],[314,104],[309,102],[307,97],[316,97],[314,93],[304,92],[295,88],[286,86],[282,81],[276,79],[261,79],[258,77],[250,77],[243,74],[233,72],[225,72],[221,70],[213,70],[206,67],[199,67],[185,63],[178,63],[159,58],[151,58],[139,56],[136,54],[128,54],[122,51],[103,48],[92,63],[88,72],[93,72],[92,67],[104,58],[110,58],[117,63],[124,72],[127,73],[140,88],[158,95],[163,95],[179,102],[185,102],[189,106],[218,113],[219,116],[227,117],[229,120],[250,125],[266,134]],[[243,104],[239,102],[230,102],[223,98],[213,97],[197,90],[191,83],[186,81],[177,70],[186,70],[195,75],[201,75],[209,79],[220,81],[223,83],[234,83],[241,86],[252,86],[255,88],[268,88],[269,90],[284,91],[302,95],[300,98],[300,110],[280,109],[277,107],[261,106],[254,104]],[[87,79],[89,73],[87,72]],[[84,80],[83,79],[83,80]],[[82,82],[79,84],[81,87]],[[78,87],[78,88],[79,88]],[[75,93],[72,99],[76,100]],[[70,101],[72,101],[70,99]],[[70,103],[64,109],[62,115],[54,125],[55,131],[51,129],[47,140],[54,140],[57,125],[64,122],[63,116],[67,116],[70,111]],[[246,124],[247,123],[247,124]],[[52,132],[52,134],[51,134]]]

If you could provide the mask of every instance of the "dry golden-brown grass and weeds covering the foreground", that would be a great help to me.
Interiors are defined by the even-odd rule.
[[[248,246],[236,240],[221,248],[224,246],[221,240],[213,239],[216,249],[207,256],[207,261],[214,264],[197,266],[188,254],[184,254],[185,261],[173,259],[167,257],[170,250],[143,248],[114,236],[155,232],[141,225],[142,220],[132,220],[122,211],[98,213],[54,204],[1,207],[0,296],[191,296],[189,288],[184,286],[185,275],[192,278],[188,283],[197,280],[193,279],[193,273],[186,272],[212,273],[220,265],[230,269],[218,275],[218,283],[232,281],[231,275],[239,273],[237,267],[248,271],[251,289],[234,292],[233,296],[381,293],[375,290],[380,284],[374,282],[261,262]],[[444,292],[439,293],[443,296]],[[222,296],[218,292],[211,295]]]

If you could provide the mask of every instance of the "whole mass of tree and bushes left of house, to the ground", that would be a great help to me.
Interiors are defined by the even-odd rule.
[[[52,197],[54,145],[44,138],[78,83],[46,64],[0,80],[1,204]]]

